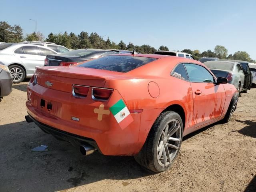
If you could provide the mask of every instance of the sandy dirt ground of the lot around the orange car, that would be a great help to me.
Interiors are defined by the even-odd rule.
[[[184,138],[172,168],[160,174],[133,157],[80,154],[42,132],[26,115],[26,84],[0,102],[0,191],[256,191],[256,88],[239,98],[227,124]],[[31,148],[48,145],[47,152]]]

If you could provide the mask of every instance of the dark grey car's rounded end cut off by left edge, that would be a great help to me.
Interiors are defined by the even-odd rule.
[[[8,66],[0,62],[0,98],[8,96],[12,92],[12,83],[12,75]]]

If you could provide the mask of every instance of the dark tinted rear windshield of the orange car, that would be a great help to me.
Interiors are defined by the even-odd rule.
[[[156,58],[136,56],[105,56],[85,62],[78,66],[126,73],[154,60],[156,60]]]

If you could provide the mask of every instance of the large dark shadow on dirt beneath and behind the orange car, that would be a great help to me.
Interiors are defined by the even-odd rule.
[[[82,156],[70,143],[58,141],[25,121],[0,126],[0,191],[57,191],[99,180],[126,180],[151,175],[133,157]],[[32,148],[46,144],[47,152]],[[15,179],[14,179],[15,176]]]

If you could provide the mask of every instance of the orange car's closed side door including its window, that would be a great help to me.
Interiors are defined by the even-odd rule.
[[[214,76],[203,66],[191,63],[184,66],[193,92],[193,118],[197,128],[220,118],[225,90],[223,85],[216,85]]]

